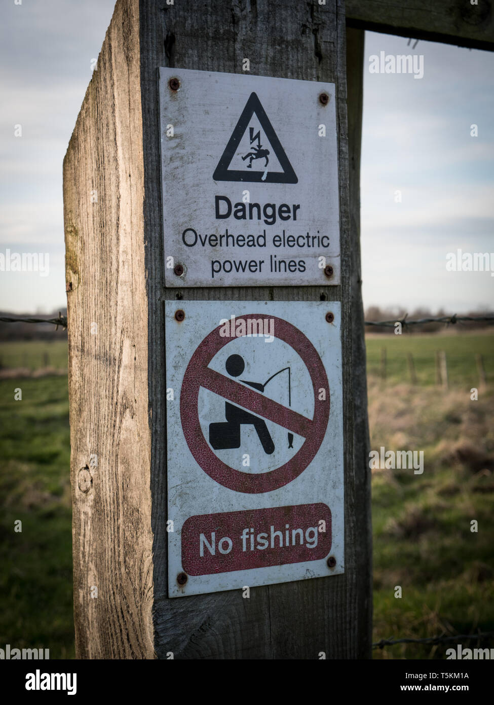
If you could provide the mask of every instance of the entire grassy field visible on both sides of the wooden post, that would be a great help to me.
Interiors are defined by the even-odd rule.
[[[376,376],[383,346],[385,382]],[[66,368],[66,344],[47,347],[50,364]],[[35,369],[43,348],[9,343],[0,357],[4,366]],[[367,350],[371,448],[424,450],[421,475],[373,472],[374,640],[494,630],[494,336],[372,337]],[[435,350],[447,353],[447,393],[433,385]],[[408,352],[417,386],[407,384]],[[490,384],[474,401],[478,352]],[[27,365],[19,362],[24,355]],[[0,646],[71,658],[66,377],[0,379],[0,398]],[[14,531],[16,520],[22,532]],[[445,658],[445,648],[399,645],[374,651],[374,658]]]

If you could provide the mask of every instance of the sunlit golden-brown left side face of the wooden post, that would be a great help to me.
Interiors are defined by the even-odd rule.
[[[91,202],[94,190],[97,202]],[[116,6],[64,160],[63,200],[76,654],[152,658],[151,439],[135,1]],[[97,455],[97,467],[91,455]],[[97,597],[91,596],[93,586]]]

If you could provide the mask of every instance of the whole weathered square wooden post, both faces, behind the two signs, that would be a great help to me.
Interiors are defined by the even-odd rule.
[[[116,3],[63,165],[78,658],[370,656],[370,471],[358,211],[363,33],[355,30],[349,36],[350,192],[342,0]],[[245,59],[249,59],[251,81],[257,76],[271,76],[335,85],[338,181],[326,183],[324,173],[311,173],[310,178],[314,188],[321,179],[316,190],[322,188],[328,197],[331,188],[337,189],[338,284],[328,286],[322,278],[316,283],[308,279],[296,286],[275,286],[276,278],[272,277],[253,286],[190,286],[187,281],[183,287],[180,283],[165,286],[169,273],[164,258],[174,253],[163,251],[163,205],[168,217],[177,203],[167,202],[166,195],[164,204],[162,200],[160,146],[168,147],[164,146],[166,135],[160,125],[160,101],[163,106],[164,98],[159,69],[176,69],[178,83],[170,85],[170,90],[178,90],[182,81],[184,91],[177,100],[185,101],[189,84],[187,74],[180,71],[240,74],[243,80],[247,74]],[[166,93],[166,83],[163,85]],[[211,89],[211,106],[215,95]],[[290,105],[295,109],[297,96],[290,95]],[[166,99],[174,100],[173,96]],[[232,114],[233,125],[243,106],[239,99],[235,116]],[[194,111],[204,109],[204,105],[189,103],[187,108],[193,117]],[[271,117],[274,109],[266,109]],[[288,109],[287,119],[290,114]],[[281,130],[283,123],[278,121],[273,127]],[[213,129],[214,125],[211,135]],[[309,129],[300,125],[302,131]],[[283,147],[287,149],[285,143]],[[183,149],[190,161],[193,155],[187,152],[186,143]],[[180,164],[185,166],[185,161]],[[292,166],[295,171],[300,169],[299,164]],[[180,180],[180,169],[177,174]],[[242,189],[249,184],[237,186],[240,201]],[[198,188],[197,200],[190,208],[206,214],[209,207]],[[168,243],[174,236],[165,228]],[[187,262],[184,264],[180,269],[175,262],[172,271],[177,277],[192,276],[187,273]],[[242,589],[224,587],[169,596],[168,582],[178,590],[177,584],[184,586],[187,575],[180,573],[176,581],[175,575],[167,575],[168,548],[173,545],[168,541],[167,520],[174,518],[168,515],[167,471],[174,464],[175,470],[183,467],[186,472],[189,456],[174,451],[175,438],[184,442],[181,429],[168,438],[167,453],[166,427],[179,413],[173,404],[179,404],[180,389],[175,389],[172,401],[165,369],[171,374],[180,366],[180,356],[165,356],[165,346],[171,345],[165,340],[165,328],[175,331],[177,321],[183,318],[178,311],[175,317],[168,317],[166,312],[183,309],[189,326],[183,330],[192,331],[187,333],[192,336],[194,326],[200,331],[202,325],[199,317],[194,319],[190,314],[197,309],[197,302],[211,302],[211,309],[202,309],[206,312],[220,302],[239,302],[241,312],[247,311],[246,302],[263,302],[266,311],[269,305],[275,310],[279,302],[293,302],[294,309],[302,306],[300,302],[307,302],[310,310],[315,310],[319,302],[319,307],[333,308],[337,316],[340,311],[334,330],[338,331],[339,326],[343,432],[342,441],[331,438],[328,448],[341,442],[343,467],[335,464],[333,451],[323,460],[324,441],[316,456],[322,463],[321,471],[314,476],[324,483],[326,472],[338,477],[341,470],[344,478],[340,489],[344,490],[345,565],[344,570],[338,567],[343,556],[337,556],[338,575],[331,575],[333,565],[328,559],[326,577],[309,578],[310,571],[304,575],[309,578],[306,580],[291,577],[288,582],[277,582],[268,577],[264,584],[258,581],[258,587],[252,587],[248,599]],[[260,304],[253,308],[260,308]],[[326,318],[328,327],[321,333],[328,335],[328,341],[332,324],[333,320]],[[335,360],[338,341],[339,336],[332,348]],[[186,352],[192,355],[194,350]],[[323,360],[330,355],[326,349],[318,352]],[[234,388],[228,382],[228,390]],[[259,402],[258,392],[248,394],[249,403]],[[336,390],[331,411],[337,416],[338,394]],[[184,399],[180,396],[180,403],[185,405]],[[290,435],[293,437],[289,434],[289,440]],[[208,486],[214,486],[218,493],[224,491],[218,483]],[[335,493],[340,489],[336,488]],[[169,483],[168,493],[173,491],[173,483]],[[199,490],[192,494],[194,501],[197,494]],[[212,515],[220,511],[215,496],[211,493],[208,497]],[[182,528],[175,526],[175,532]],[[342,541],[343,535],[334,539]],[[189,585],[193,586],[190,575]]]

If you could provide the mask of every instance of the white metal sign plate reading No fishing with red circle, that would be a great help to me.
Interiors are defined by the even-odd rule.
[[[340,303],[165,312],[169,596],[343,572]]]

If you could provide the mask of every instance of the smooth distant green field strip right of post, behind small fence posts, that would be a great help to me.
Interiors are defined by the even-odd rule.
[[[401,336],[367,336],[367,370],[371,375],[381,374],[381,350],[385,348],[386,381],[389,384],[409,382],[407,354],[411,353],[419,384],[436,382],[436,350],[444,350],[450,386],[478,387],[475,354],[483,356],[488,383],[494,384],[494,334],[463,333],[438,336],[404,333]]]

